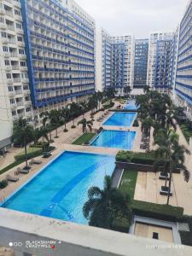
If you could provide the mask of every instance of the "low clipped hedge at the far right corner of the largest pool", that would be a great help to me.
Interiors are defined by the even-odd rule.
[[[156,160],[154,157],[154,151],[143,153],[143,152],[131,152],[131,151],[121,150],[116,155],[116,161],[125,162],[125,163],[131,162],[135,164],[153,166]]]

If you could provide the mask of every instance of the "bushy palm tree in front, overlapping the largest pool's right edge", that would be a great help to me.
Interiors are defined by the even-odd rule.
[[[103,189],[90,188],[88,198],[88,201],[84,203],[83,213],[91,226],[112,230],[115,220],[119,218],[131,220],[129,195],[119,189],[114,189],[111,177],[105,177]]]

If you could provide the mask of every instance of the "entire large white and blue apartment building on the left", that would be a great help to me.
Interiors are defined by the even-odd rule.
[[[0,3],[0,149],[13,121],[85,101],[95,91],[95,20],[73,0]]]

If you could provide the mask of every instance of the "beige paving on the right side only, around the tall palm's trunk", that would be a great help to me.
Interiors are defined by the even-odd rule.
[[[177,125],[177,134],[179,135],[179,143],[189,148],[183,133]],[[192,155],[186,155],[185,165],[190,171],[189,183],[183,178],[183,173],[173,174],[172,177],[172,197],[170,204],[184,208],[184,214],[192,215]],[[137,185],[134,199],[140,201],[149,201],[159,204],[166,204],[166,196],[160,195],[160,187],[165,181],[159,179],[159,173],[138,172]]]

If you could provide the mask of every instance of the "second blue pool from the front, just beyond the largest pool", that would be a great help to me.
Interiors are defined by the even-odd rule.
[[[136,137],[136,131],[102,131],[91,146],[121,148],[130,150]]]

